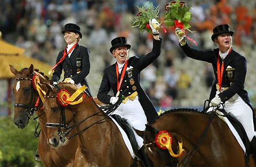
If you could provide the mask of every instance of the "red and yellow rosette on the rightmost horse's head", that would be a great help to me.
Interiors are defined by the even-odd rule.
[[[160,131],[155,136],[155,143],[158,145],[161,149],[168,149],[170,155],[172,157],[180,157],[185,152],[185,149],[182,148],[183,143],[179,142],[179,153],[175,154],[174,151],[172,151],[172,136],[167,131]]]

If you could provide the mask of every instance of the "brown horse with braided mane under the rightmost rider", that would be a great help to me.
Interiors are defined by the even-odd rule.
[[[144,131],[135,131],[144,139],[145,151],[155,167],[246,166],[243,149],[216,113],[172,109],[159,115],[151,125],[146,125]],[[171,156],[169,149],[162,148],[164,135],[166,139],[171,136],[170,149],[179,156]],[[185,150],[183,153],[181,147]],[[249,166],[255,166],[255,156],[249,157]]]

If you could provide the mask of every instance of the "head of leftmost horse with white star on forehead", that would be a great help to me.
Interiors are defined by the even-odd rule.
[[[22,68],[18,71],[12,65],[10,66],[11,72],[15,75],[15,82],[13,85],[14,93],[14,118],[13,122],[20,129],[24,129],[30,117],[34,114],[40,101],[38,91],[36,91],[36,83],[40,80],[46,82],[48,78],[43,76],[39,70],[34,69],[31,64],[29,68]],[[36,72],[38,71],[38,72]],[[48,82],[50,82],[48,80]],[[43,104],[41,104],[43,106]]]

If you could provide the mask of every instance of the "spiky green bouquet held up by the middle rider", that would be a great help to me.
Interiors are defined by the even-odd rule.
[[[131,27],[138,27],[142,33],[146,31],[152,34],[152,30],[148,22],[150,19],[158,18],[159,6],[155,7],[152,3],[148,5],[148,2],[142,7],[137,6],[139,12],[137,16],[134,17],[134,20],[132,20],[133,25]]]

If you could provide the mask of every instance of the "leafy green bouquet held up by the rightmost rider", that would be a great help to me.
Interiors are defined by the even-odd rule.
[[[166,5],[166,12],[164,12],[164,23],[167,27],[177,27],[177,25],[183,24],[183,29],[191,27],[189,20],[191,20],[191,7],[185,6],[185,2],[175,0]],[[178,26],[179,27],[179,26]],[[180,28],[180,27],[179,27]],[[189,30],[189,29],[188,29]]]

